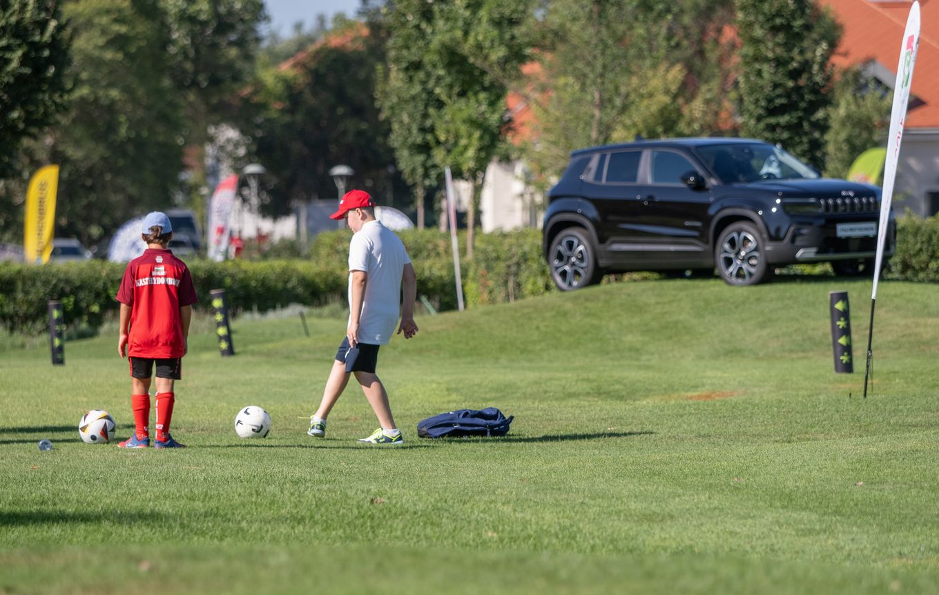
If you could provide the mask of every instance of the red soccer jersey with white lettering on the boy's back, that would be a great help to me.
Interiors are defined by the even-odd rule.
[[[117,301],[131,307],[128,355],[181,358],[186,353],[179,308],[194,304],[192,276],[172,251],[147,248],[128,263]]]

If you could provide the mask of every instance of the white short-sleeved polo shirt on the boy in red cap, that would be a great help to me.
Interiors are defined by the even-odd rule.
[[[368,221],[349,242],[348,300],[352,303],[352,271],[368,275],[359,341],[384,345],[392,340],[394,326],[401,315],[401,275],[410,263],[401,239],[381,221]],[[352,322],[352,313],[349,313]]]

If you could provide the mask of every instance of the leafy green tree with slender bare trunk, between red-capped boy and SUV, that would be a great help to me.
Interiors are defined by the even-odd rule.
[[[476,196],[506,132],[504,73],[528,59],[520,37],[531,0],[404,0],[386,6],[387,84],[396,155],[412,183],[450,165],[473,183],[467,224],[472,256]],[[421,97],[423,94],[429,97]]]

